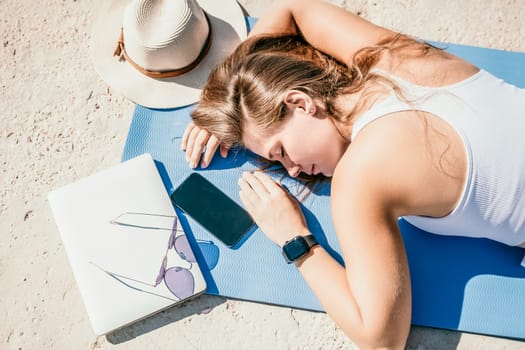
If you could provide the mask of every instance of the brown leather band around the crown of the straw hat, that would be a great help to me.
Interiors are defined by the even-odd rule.
[[[119,56],[119,58],[124,58],[124,60],[128,62],[133,68],[135,68],[137,71],[139,71],[140,73],[150,78],[162,79],[162,78],[178,77],[179,75],[187,73],[193,68],[197,67],[197,65],[202,61],[202,59],[204,58],[204,56],[206,56],[206,54],[208,53],[208,50],[210,49],[213,34],[211,30],[210,20],[208,19],[208,15],[206,14],[206,12],[204,12],[204,17],[206,18],[206,22],[208,22],[208,28],[209,28],[208,35],[206,36],[206,41],[204,42],[204,45],[201,49],[201,52],[199,53],[199,56],[197,56],[197,58],[193,62],[191,62],[185,67],[177,68],[173,70],[166,70],[166,71],[153,71],[153,70],[148,70],[144,67],[141,67],[135,61],[133,61],[131,57],[129,57],[128,54],[126,53],[126,48],[124,45],[123,28],[120,28],[120,36],[118,39],[117,47],[115,48],[115,51],[113,52],[113,56]]]

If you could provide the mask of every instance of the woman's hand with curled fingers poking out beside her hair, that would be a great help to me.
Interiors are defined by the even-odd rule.
[[[210,165],[217,148],[223,158],[228,156],[229,147],[220,143],[210,132],[190,122],[182,135],[181,149],[186,152],[186,161],[191,168],[196,168],[199,161],[202,168]],[[202,157],[202,159],[201,159]]]

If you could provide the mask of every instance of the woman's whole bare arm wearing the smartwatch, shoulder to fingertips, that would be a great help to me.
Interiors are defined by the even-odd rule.
[[[297,264],[326,312],[363,349],[402,349],[410,330],[410,274],[398,217],[446,215],[461,189],[464,169],[440,167],[453,139],[429,132],[439,125],[424,116],[401,112],[371,122],[337,165],[331,209],[345,268],[322,247]],[[240,185],[241,200],[272,241],[282,246],[308,233],[299,207],[267,176],[247,174]]]

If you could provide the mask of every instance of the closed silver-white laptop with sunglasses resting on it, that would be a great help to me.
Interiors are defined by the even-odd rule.
[[[205,291],[150,154],[58,188],[48,200],[95,334]]]

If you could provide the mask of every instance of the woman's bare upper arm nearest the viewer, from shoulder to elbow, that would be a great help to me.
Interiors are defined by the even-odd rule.
[[[352,305],[361,317],[356,341],[363,336],[367,346],[400,348],[406,341],[411,287],[397,219],[447,215],[461,196],[465,174],[459,136],[439,118],[414,111],[369,123],[338,163],[331,208]],[[348,316],[332,307],[334,319],[352,334],[345,328]]]

